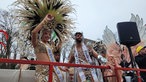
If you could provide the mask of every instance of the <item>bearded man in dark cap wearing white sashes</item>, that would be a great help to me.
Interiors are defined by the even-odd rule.
[[[76,43],[73,45],[73,49],[71,50],[70,56],[69,56],[69,63],[75,62],[76,64],[86,64],[86,65],[92,65],[94,62],[91,60],[91,57],[89,53],[92,53],[92,55],[95,58],[101,58],[102,61],[107,61],[105,58],[103,58],[101,55],[98,55],[96,51],[91,48],[87,47],[85,43],[83,42],[83,34],[81,32],[75,33],[75,41]],[[101,82],[99,81],[96,71],[94,68],[77,68],[77,82]],[[76,82],[76,81],[75,81]]]

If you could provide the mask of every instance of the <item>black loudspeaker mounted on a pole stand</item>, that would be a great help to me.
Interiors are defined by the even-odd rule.
[[[119,42],[126,46],[134,46],[140,42],[135,22],[119,22],[117,24]]]

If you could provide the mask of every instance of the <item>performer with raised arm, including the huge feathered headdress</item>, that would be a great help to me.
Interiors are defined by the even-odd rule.
[[[64,43],[73,30],[69,13],[73,8],[68,0],[17,0],[16,12],[24,39],[30,41],[37,61],[56,62],[54,52]],[[53,35],[52,35],[53,34]],[[53,36],[53,37],[52,37]],[[52,45],[52,41],[54,44]],[[59,46],[58,46],[59,45]],[[61,49],[59,49],[61,50]],[[62,68],[53,67],[53,82],[64,82]],[[36,66],[36,81],[48,82],[48,66]]]

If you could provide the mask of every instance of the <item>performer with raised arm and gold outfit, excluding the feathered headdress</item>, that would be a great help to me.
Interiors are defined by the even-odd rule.
[[[53,19],[51,15],[47,15],[45,19],[47,18],[48,18],[48,21]],[[34,47],[37,60],[49,62],[49,61],[55,61],[55,60],[54,58],[51,59],[51,57],[53,57],[53,52],[52,52],[52,47],[48,43],[48,40],[51,38],[51,29],[47,29],[42,26],[42,23],[44,23],[45,19],[35,29],[32,30],[31,41]],[[39,31],[41,33],[40,40],[38,40],[38,36],[37,36]],[[43,71],[44,70],[43,68],[45,68],[46,71]],[[63,80],[63,75],[61,74],[61,71],[58,68],[56,69],[59,71],[58,78],[60,77],[60,81]],[[38,82],[47,81],[46,76],[48,74],[47,73],[48,66],[39,65],[37,66],[36,72],[37,72],[36,75],[37,75]],[[58,82],[56,77],[54,81]]]

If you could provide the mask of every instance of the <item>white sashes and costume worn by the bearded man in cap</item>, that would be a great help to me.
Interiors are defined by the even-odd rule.
[[[76,46],[74,45],[74,48],[71,52],[71,54],[74,52],[75,57],[75,63],[76,64],[87,64],[92,65],[93,61],[91,60],[91,57],[89,55],[88,49],[84,43],[82,43],[82,51],[77,51]],[[83,55],[81,55],[83,53]],[[81,82],[91,81],[91,82],[100,82],[96,70],[94,68],[81,68],[78,67],[77,69],[77,75]]]

